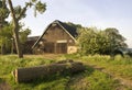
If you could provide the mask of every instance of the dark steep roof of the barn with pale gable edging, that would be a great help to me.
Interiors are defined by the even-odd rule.
[[[53,24],[57,24],[59,25],[75,42],[76,42],[76,36],[78,35],[77,34],[77,29],[67,24],[67,23],[64,23],[64,22],[61,22],[58,20],[55,20],[54,22],[52,22],[46,29],[45,31],[43,32],[43,34],[38,37],[38,40],[35,42],[35,44],[33,45],[32,48],[34,48],[36,46],[36,44],[41,41],[41,38],[43,37],[43,35],[45,34],[45,32],[53,25]]]

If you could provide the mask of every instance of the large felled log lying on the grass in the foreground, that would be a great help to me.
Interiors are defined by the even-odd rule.
[[[30,82],[38,78],[51,78],[55,74],[77,74],[85,70],[81,63],[57,63],[45,66],[18,68],[12,74],[15,82]]]

